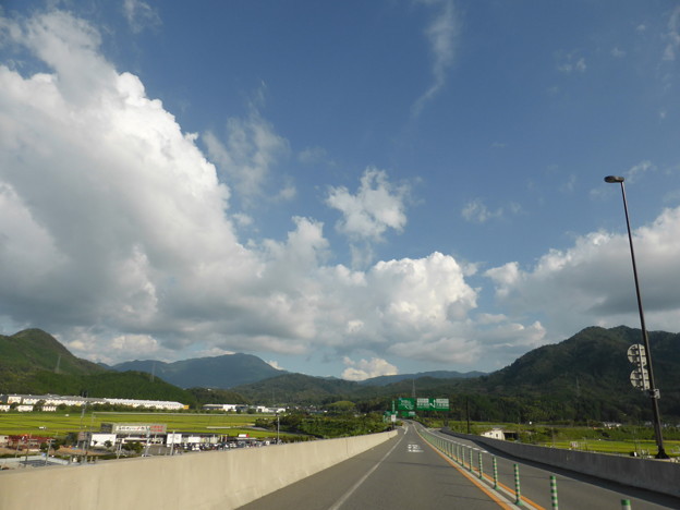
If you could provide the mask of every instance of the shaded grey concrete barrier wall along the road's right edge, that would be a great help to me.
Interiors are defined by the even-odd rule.
[[[486,445],[520,459],[563,467],[632,487],[676,497],[680,496],[680,464],[676,462],[524,445],[459,434],[450,429],[442,429],[442,432],[450,436]]]

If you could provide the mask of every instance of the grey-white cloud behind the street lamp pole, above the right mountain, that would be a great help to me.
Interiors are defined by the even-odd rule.
[[[649,329],[678,329],[680,208],[638,229],[633,242]],[[628,235],[594,232],[566,251],[550,251],[530,269],[517,263],[486,271],[498,300],[518,315],[541,315],[552,335],[594,324],[639,324]]]

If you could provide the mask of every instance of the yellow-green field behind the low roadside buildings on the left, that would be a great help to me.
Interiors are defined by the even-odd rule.
[[[270,437],[271,432],[253,430],[262,414],[196,414],[144,412],[7,413],[0,414],[0,434],[64,436],[71,432],[99,430],[102,423],[160,423],[168,432],[226,434],[247,433],[252,437]],[[283,434],[281,434],[283,435]]]

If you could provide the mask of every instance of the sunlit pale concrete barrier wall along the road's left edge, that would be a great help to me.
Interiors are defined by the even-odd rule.
[[[0,473],[0,509],[228,510],[396,435],[4,471]]]

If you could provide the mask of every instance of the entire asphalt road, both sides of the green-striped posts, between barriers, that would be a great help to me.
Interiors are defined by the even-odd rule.
[[[408,424],[397,438],[320,473],[257,499],[242,510],[394,510],[464,508],[498,509],[514,506],[514,464],[519,465],[523,507],[551,509],[550,475],[557,478],[559,508],[632,510],[680,509],[680,499],[634,489],[543,464],[488,452],[476,444],[430,430],[452,445],[473,451],[473,472],[435,451]],[[499,490],[478,479],[478,453],[484,473],[493,479],[491,453],[498,466]]]

